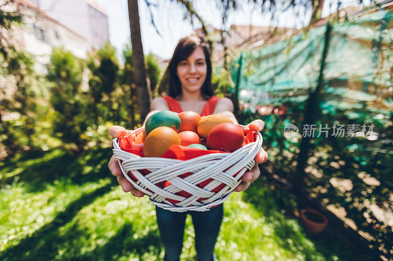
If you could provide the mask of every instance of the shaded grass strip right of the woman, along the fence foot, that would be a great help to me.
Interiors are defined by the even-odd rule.
[[[359,249],[349,238],[343,235],[341,228],[328,225],[319,235],[312,235],[305,229],[298,229],[294,215],[298,208],[305,208],[307,203],[282,188],[268,186],[266,177],[260,177],[245,191],[244,200],[273,225],[277,242],[283,249],[301,255],[305,260],[315,260],[323,256],[326,260],[375,260],[367,249]],[[300,221],[298,221],[300,223]],[[312,245],[308,243],[312,242]]]

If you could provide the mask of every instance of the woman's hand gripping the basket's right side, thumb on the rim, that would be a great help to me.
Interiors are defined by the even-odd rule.
[[[264,126],[265,123],[260,119],[254,120],[247,125],[247,127],[249,127],[251,130],[254,131],[261,131]],[[267,160],[267,158],[268,155],[266,151],[263,148],[261,148],[261,150],[258,152],[258,154],[256,154],[254,158],[255,166],[253,166],[253,168],[250,171],[246,171],[243,174],[242,182],[233,191],[240,192],[240,191],[247,190],[251,182],[256,180],[261,173],[258,164],[264,163]]]

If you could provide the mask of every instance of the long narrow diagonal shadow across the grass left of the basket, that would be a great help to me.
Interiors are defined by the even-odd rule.
[[[44,257],[44,255],[53,255],[52,252],[54,252],[56,245],[63,243],[65,240],[59,237],[58,229],[70,222],[82,208],[91,204],[96,198],[108,193],[111,187],[112,184],[108,184],[84,194],[30,237],[23,238],[17,245],[1,252],[0,260],[52,260],[54,256]]]

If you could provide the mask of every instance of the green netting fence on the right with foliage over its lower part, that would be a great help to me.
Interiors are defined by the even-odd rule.
[[[275,171],[392,258],[393,10],[322,25],[234,61],[243,119],[265,121]]]

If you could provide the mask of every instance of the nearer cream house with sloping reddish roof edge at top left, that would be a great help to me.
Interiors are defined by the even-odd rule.
[[[10,1],[6,11],[16,11],[23,25],[13,30],[18,46],[35,57],[35,70],[47,72],[53,47],[64,47],[79,59],[86,59],[90,45],[86,38],[52,18],[29,0]]]

